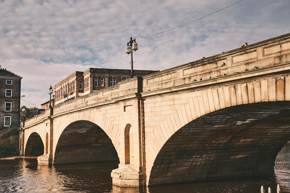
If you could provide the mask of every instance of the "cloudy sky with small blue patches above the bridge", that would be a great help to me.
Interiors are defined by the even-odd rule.
[[[290,33],[290,0],[0,0],[0,65],[21,106],[88,68],[165,70]]]

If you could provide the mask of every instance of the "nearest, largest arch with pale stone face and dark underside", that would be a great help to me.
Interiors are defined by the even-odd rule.
[[[146,99],[162,115],[146,128],[147,185],[273,172],[290,140],[290,78],[247,81]]]

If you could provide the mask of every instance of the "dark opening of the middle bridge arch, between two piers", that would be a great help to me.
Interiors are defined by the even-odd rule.
[[[92,122],[80,120],[69,124],[57,141],[53,163],[93,161],[119,161],[111,139]]]

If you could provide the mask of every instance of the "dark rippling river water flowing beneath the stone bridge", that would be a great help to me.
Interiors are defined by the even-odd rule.
[[[168,192],[231,192],[260,193],[261,185],[276,193],[290,193],[290,146],[279,152],[275,174],[229,181],[184,183],[138,188],[119,188],[112,185],[110,172],[118,164],[82,163],[56,166],[37,166],[35,159],[0,160],[0,192],[109,192],[109,193],[168,193]]]

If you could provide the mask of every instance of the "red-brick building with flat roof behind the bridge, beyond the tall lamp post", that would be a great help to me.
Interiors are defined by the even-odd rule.
[[[151,70],[134,70],[135,76],[155,73]],[[55,101],[57,106],[80,96],[113,86],[130,77],[131,70],[89,68],[84,72],[75,71],[55,85]]]

